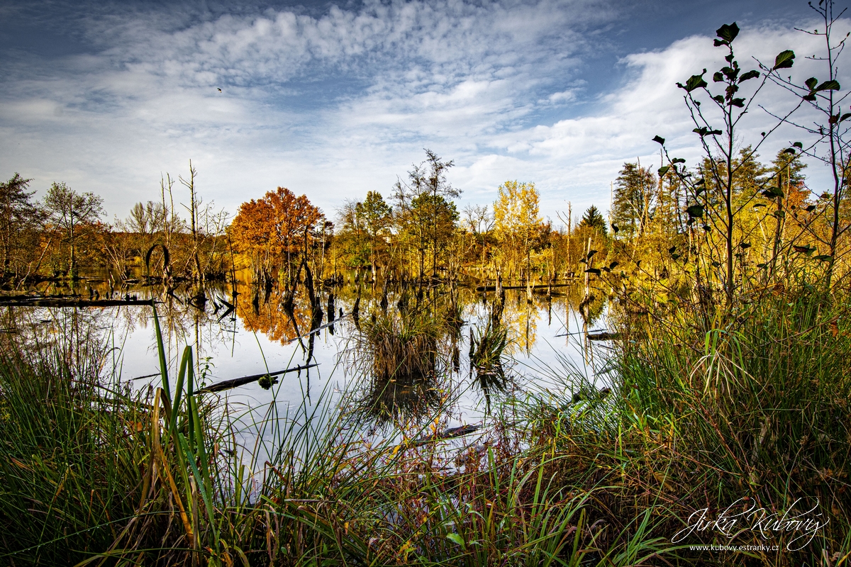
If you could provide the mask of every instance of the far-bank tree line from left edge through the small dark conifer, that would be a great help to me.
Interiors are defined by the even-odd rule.
[[[171,281],[213,281],[248,269],[254,283],[287,287],[303,261],[322,280],[363,269],[373,277],[425,281],[468,268],[525,280],[542,270],[552,277],[574,270],[562,258],[570,258],[568,233],[576,242],[607,235],[594,206],[574,226],[553,230],[540,218],[533,183],[506,181],[493,205],[459,212],[460,190],[446,179],[452,166],[426,150],[426,160],[397,182],[389,199],[369,191],[362,201],[346,201],[333,221],[284,187],[244,202],[231,218],[203,203],[191,163],[189,176],[177,179],[188,190],[188,205],[175,207],[175,179],[167,174],[158,201],[138,202],[112,223],[102,197],[54,183],[39,201],[31,180],[15,173],[0,184],[3,281],[6,287],[74,281],[91,268],[109,269],[116,281],[136,278],[134,268]]]

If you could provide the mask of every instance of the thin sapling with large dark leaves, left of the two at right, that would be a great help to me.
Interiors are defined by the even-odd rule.
[[[727,54],[723,57],[721,68],[712,74],[712,82],[723,88],[723,94],[713,94],[709,84],[703,79],[705,69],[700,75],[690,77],[686,84],[677,83],[677,86],[685,91],[684,98],[695,127],[693,131],[700,136],[700,145],[705,155],[703,163],[689,171],[685,160],[668,156],[665,152],[669,163],[660,169],[660,175],[672,174],[677,179],[677,186],[683,188],[683,208],[688,213],[685,223],[688,240],[698,242],[698,255],[708,259],[706,271],[701,274],[699,266],[691,276],[705,280],[706,283],[701,283],[700,286],[714,288],[720,285],[728,309],[741,291],[742,279],[737,279],[737,275],[748,269],[742,251],[751,247],[750,239],[756,228],[755,224],[762,235],[766,230],[760,222],[754,223],[751,218],[747,218],[749,215],[745,209],[751,207],[761,191],[767,191],[762,193],[763,196],[780,195],[766,190],[768,172],[764,168],[760,169],[757,162],[756,152],[768,134],[763,132],[762,139],[756,145],[742,146],[738,128],[741,120],[748,114],[751,104],[754,104],[753,97],[760,93],[768,80],[782,81],[777,70],[791,67],[794,60],[794,54],[785,51],[777,56],[773,68],[768,69],[761,65],[762,72],[743,72],[734,53],[734,40],[738,35],[739,27],[735,23],[721,26],[717,30],[714,45],[724,48]],[[762,81],[754,83],[750,99],[747,96],[737,96],[743,83],[758,77],[762,77]],[[815,87],[813,84],[812,88]],[[825,89],[828,87],[832,85],[825,86]],[[708,97],[713,104],[701,106],[706,102],[700,100],[701,95]],[[785,116],[788,117],[795,110],[797,107],[786,112]],[[654,140],[664,148],[664,139],[657,136]],[[794,149],[788,151],[792,155],[795,153]],[[679,201],[677,196],[677,204]],[[776,218],[783,214],[781,211]],[[698,226],[702,232],[696,230]],[[780,235],[775,238],[774,246],[769,247],[771,259],[760,263],[763,268],[770,264],[774,270],[777,256],[782,249],[778,246],[779,238]],[[711,293],[707,297],[711,298]]]

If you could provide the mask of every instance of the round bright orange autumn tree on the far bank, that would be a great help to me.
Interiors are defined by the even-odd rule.
[[[248,257],[255,281],[271,281],[275,269],[289,278],[293,265],[311,249],[313,230],[323,219],[307,196],[278,187],[240,205],[231,240],[235,251]]]

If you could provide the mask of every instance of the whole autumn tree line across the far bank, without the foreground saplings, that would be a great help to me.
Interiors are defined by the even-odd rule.
[[[420,283],[587,284],[591,275],[614,287],[625,288],[630,277],[629,285],[661,277],[676,287],[689,261],[722,264],[723,235],[713,233],[710,219],[723,203],[713,199],[718,189],[711,179],[726,165],[711,157],[694,167],[694,177],[708,180],[699,204],[682,169],[654,172],[626,162],[614,181],[608,218],[591,206],[574,219],[568,208],[559,213],[558,229],[541,218],[534,183],[517,180],[501,184],[493,203],[459,212],[460,190],[447,179],[451,167],[426,150],[389,198],[368,191],[361,201],[346,201],[333,222],[307,196],[284,187],[244,202],[229,222],[227,213],[203,203],[190,164],[186,179],[176,180],[188,196],[185,214],[176,212],[175,179],[166,175],[157,201],[136,203],[127,218],[110,224],[100,196],[54,183],[37,201],[30,180],[15,173],[0,184],[3,280],[7,286],[72,281],[86,266],[108,268],[117,280],[143,271],[163,281],[199,282],[248,269],[254,283],[290,292],[305,278],[339,279],[349,269],[369,279]],[[781,150],[764,164],[746,146],[730,167],[738,277],[749,277],[749,269],[780,274],[797,265],[782,250],[828,260],[820,249],[831,241],[831,203],[808,189],[805,166],[793,152]],[[846,208],[839,215],[843,226],[851,224]],[[844,246],[839,241],[837,250]]]

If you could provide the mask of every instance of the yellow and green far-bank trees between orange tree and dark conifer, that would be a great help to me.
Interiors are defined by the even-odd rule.
[[[554,230],[540,217],[533,183],[506,181],[493,204],[459,213],[454,198],[460,190],[446,179],[452,165],[426,150],[426,160],[397,182],[388,200],[370,191],[363,201],[347,201],[336,219],[331,269],[368,269],[408,281],[460,274],[488,281],[554,281],[584,269],[578,261],[589,239],[608,250],[607,223],[597,207]]]

